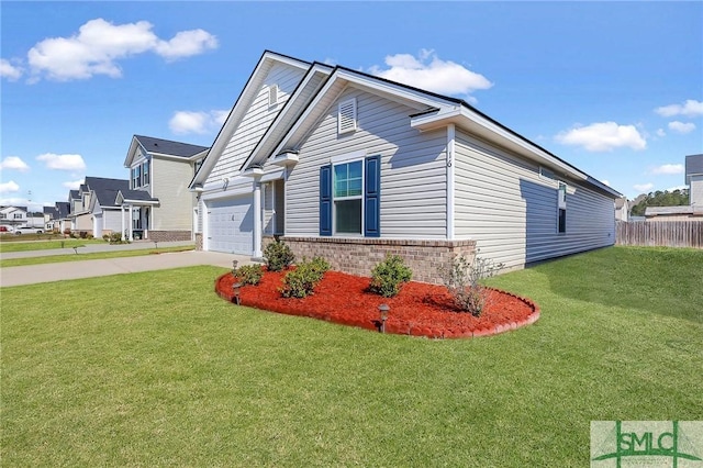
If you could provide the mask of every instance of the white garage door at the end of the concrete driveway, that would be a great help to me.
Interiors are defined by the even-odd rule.
[[[252,196],[208,202],[208,249],[228,254],[253,254]]]

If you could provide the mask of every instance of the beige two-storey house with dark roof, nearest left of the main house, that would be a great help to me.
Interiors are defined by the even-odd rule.
[[[132,213],[126,236],[153,241],[193,238],[196,197],[188,182],[208,147],[134,135],[124,166],[130,185],[118,203]]]

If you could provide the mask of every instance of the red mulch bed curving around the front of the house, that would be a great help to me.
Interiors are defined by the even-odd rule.
[[[386,333],[426,336],[432,338],[468,338],[494,335],[534,323],[539,308],[529,299],[492,289],[489,305],[480,317],[459,313],[451,297],[442,286],[411,281],[401,287],[394,298],[368,292],[369,278],[327,271],[304,299],[282,298],[278,288],[284,271],[266,271],[257,286],[241,288],[242,305],[248,305],[289,315],[310,316],[343,325],[379,330],[378,307],[390,305]],[[215,292],[233,301],[232,274],[215,280]]]

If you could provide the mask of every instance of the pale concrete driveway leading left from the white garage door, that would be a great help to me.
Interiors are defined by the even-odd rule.
[[[149,245],[144,248],[154,248],[153,243],[148,244]],[[101,246],[100,244],[96,245]],[[133,247],[134,244],[130,244],[130,246]],[[44,250],[44,253],[46,252],[52,250]],[[70,248],[70,253],[74,254],[72,248]],[[4,255],[2,257],[5,258]],[[0,287],[4,288],[10,286],[34,285],[66,279],[93,278],[99,276],[181,268],[197,265],[214,265],[223,268],[232,268],[232,260],[237,260],[239,266],[253,264],[248,256],[202,250],[174,252],[158,255],[143,255],[138,257],[109,258],[100,260],[64,261],[59,264],[0,268]]]

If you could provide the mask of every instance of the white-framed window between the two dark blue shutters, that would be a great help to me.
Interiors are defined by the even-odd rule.
[[[364,160],[333,166],[334,234],[364,233]]]

